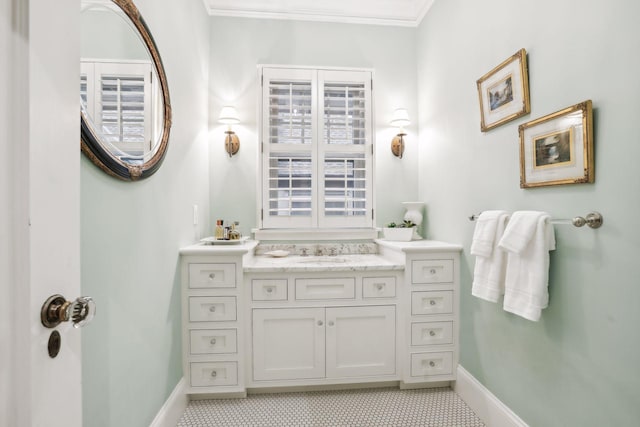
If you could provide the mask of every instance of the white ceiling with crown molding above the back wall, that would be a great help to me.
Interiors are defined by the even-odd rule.
[[[203,0],[209,15],[417,26],[435,0]]]

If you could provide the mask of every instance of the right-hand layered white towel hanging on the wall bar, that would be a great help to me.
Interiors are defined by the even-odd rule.
[[[549,251],[556,248],[549,214],[518,211],[498,243],[508,251],[504,309],[538,321],[549,304]]]

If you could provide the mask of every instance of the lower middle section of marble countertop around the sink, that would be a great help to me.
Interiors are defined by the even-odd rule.
[[[255,256],[244,265],[245,273],[284,273],[304,271],[369,271],[404,270],[404,263],[380,255],[287,256],[274,258]]]

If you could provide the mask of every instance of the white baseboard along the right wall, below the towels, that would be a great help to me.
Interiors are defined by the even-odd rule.
[[[460,365],[453,389],[487,427],[529,427]]]

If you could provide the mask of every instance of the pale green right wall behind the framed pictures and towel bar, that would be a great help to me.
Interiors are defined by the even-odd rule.
[[[529,425],[640,420],[640,3],[436,1],[418,29],[420,195],[428,232],[462,243],[461,364]],[[525,48],[531,114],[480,132],[476,80]],[[519,188],[518,125],[593,100],[596,182]],[[471,296],[473,223],[486,209],[598,210],[556,226],[550,306],[533,323]]]

